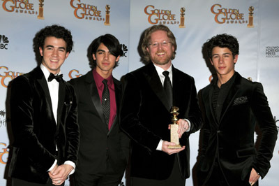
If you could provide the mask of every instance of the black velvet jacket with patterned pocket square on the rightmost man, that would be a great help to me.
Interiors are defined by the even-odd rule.
[[[213,83],[199,92],[204,117],[202,151],[197,178],[203,185],[217,159],[229,185],[248,184],[254,168],[262,178],[269,171],[277,139],[276,124],[261,83],[251,82],[236,72],[234,83],[223,104],[219,122],[213,106]],[[256,151],[255,124],[262,140]]]

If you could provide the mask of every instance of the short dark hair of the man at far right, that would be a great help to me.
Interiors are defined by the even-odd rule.
[[[218,34],[207,41],[207,55],[212,58],[212,50],[214,47],[228,48],[232,52],[232,56],[239,55],[239,42],[234,36],[228,34]]]

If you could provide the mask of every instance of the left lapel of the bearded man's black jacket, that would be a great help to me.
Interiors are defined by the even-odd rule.
[[[146,80],[148,81],[151,90],[158,96],[158,99],[163,103],[165,108],[169,111],[169,103],[167,101],[167,97],[165,95],[165,90],[163,88],[163,85],[160,81],[160,78],[158,76],[158,73],[155,69],[155,66],[150,62],[150,64],[146,65],[146,71],[144,72],[144,76]]]

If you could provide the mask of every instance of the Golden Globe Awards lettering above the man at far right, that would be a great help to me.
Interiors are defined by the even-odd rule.
[[[223,8],[220,4],[211,6],[211,13],[215,15],[214,20],[218,24],[247,24],[244,14],[239,9]]]

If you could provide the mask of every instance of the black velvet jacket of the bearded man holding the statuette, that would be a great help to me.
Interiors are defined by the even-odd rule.
[[[190,176],[190,133],[202,125],[202,116],[197,103],[194,79],[172,68],[173,103],[179,107],[179,118],[190,120],[190,132],[183,134],[181,145],[186,150],[179,152],[181,176]],[[174,157],[156,150],[159,141],[170,141],[168,125],[171,124],[170,108],[155,66],[150,63],[124,76],[124,94],[121,108],[121,127],[133,139],[130,176],[167,179],[172,172]]]

